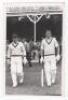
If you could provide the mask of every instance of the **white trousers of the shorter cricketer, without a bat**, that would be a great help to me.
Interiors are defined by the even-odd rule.
[[[22,57],[11,57],[11,77],[13,84],[17,84],[17,76],[19,76],[20,80],[24,78],[22,62]]]

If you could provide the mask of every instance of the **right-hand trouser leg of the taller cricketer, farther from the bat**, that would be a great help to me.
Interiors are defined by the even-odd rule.
[[[56,79],[56,59],[55,57],[51,58],[51,81],[54,84]]]

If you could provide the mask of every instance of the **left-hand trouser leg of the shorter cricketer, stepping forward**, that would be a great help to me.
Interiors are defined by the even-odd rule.
[[[13,82],[13,87],[17,86],[17,75],[16,75],[16,64],[15,64],[15,59],[11,59],[11,78]]]

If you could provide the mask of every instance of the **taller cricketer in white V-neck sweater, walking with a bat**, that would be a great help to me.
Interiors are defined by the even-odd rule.
[[[55,56],[55,48],[57,55]],[[55,83],[56,79],[56,62],[60,60],[59,44],[56,38],[52,37],[50,30],[45,33],[45,38],[41,42],[41,63],[44,63],[43,68],[46,76],[47,86]]]

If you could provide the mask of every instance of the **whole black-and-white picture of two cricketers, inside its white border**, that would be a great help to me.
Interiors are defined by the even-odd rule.
[[[6,5],[6,95],[62,96],[63,5]]]

